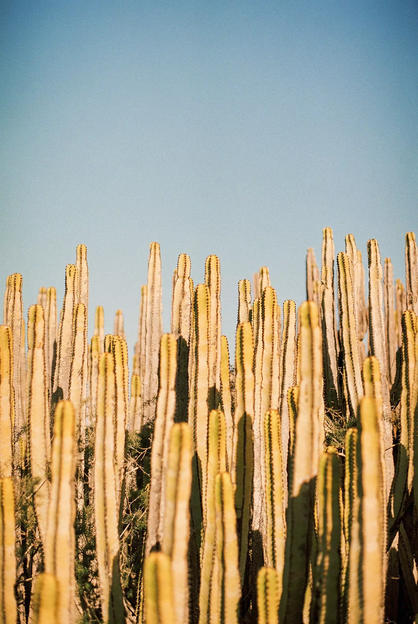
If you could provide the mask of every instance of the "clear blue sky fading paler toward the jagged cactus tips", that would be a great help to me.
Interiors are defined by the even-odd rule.
[[[418,235],[416,1],[0,2],[0,285],[25,314],[87,245],[90,330],[122,308],[132,355],[149,243],[170,331],[179,253],[221,261],[235,341],[238,280],[270,268],[305,293],[306,248],[377,238],[405,280]],[[230,344],[231,352],[234,346]]]

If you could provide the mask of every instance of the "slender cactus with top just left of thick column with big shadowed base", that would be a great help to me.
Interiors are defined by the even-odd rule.
[[[288,390],[296,381],[296,304],[292,300],[283,303],[283,331],[280,343],[279,414],[281,421],[281,449],[283,466],[287,466],[289,447]],[[287,472],[284,470],[284,499],[287,502]]]

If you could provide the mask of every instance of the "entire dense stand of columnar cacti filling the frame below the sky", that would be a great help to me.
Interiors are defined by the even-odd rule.
[[[8,276],[1,624],[411,622],[417,256],[407,233],[394,283],[369,240],[366,302],[354,236],[335,263],[325,228],[298,310],[279,305],[265,266],[252,292],[240,281],[235,363],[214,255],[197,286],[179,256],[164,334],[151,244],[130,358],[122,311],[105,336],[99,306],[87,332],[84,245],[59,315],[56,289],[41,288],[26,324],[22,276]]]

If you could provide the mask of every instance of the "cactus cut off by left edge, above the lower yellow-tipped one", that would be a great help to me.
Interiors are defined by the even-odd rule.
[[[11,477],[13,467],[13,336],[0,326],[0,479]]]

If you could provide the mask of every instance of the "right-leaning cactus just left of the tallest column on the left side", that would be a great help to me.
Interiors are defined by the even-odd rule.
[[[72,320],[74,317],[74,308],[75,305],[77,305],[78,293],[77,267],[75,265],[67,265],[66,292],[64,294],[64,302],[62,303],[62,317],[59,323],[53,402],[68,398],[72,348]]]

